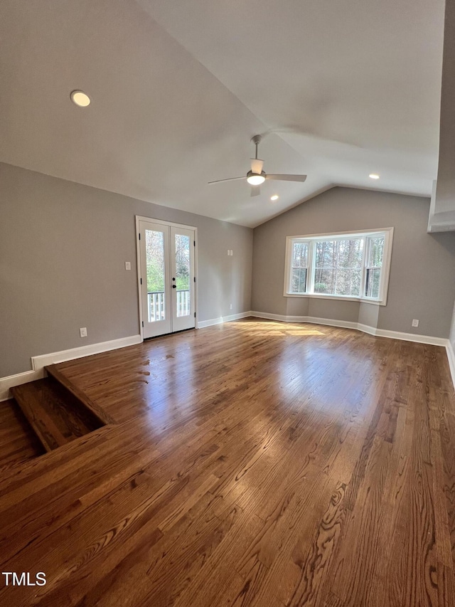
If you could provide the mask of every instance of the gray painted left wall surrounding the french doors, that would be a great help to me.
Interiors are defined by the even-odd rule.
[[[250,310],[250,228],[0,164],[0,377],[139,333],[136,215],[198,228],[200,321]]]

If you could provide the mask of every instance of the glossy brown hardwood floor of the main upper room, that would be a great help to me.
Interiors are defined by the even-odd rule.
[[[455,606],[441,347],[245,320],[59,364],[115,423],[4,470],[7,606]]]

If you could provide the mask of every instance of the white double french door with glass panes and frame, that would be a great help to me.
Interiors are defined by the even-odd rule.
[[[196,229],[139,219],[139,292],[143,337],[196,326]]]

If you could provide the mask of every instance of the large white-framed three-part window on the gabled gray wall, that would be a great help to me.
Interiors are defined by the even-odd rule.
[[[355,299],[385,305],[393,228],[288,236],[287,297]]]

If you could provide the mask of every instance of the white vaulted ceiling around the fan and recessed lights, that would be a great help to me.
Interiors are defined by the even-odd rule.
[[[335,184],[429,196],[443,29],[444,0],[2,0],[0,161],[245,226]],[[306,182],[209,186],[256,133]]]

